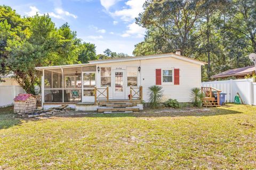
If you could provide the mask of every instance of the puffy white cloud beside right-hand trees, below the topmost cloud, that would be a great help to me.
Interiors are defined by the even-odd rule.
[[[146,29],[140,27],[135,22],[128,25],[127,28],[128,29],[125,31],[125,33],[121,35],[122,37],[130,37],[133,35],[136,38],[142,38],[145,35]]]

